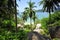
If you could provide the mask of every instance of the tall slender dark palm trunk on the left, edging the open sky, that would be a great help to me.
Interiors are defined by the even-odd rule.
[[[17,32],[17,0],[9,0],[9,4],[8,4],[9,7],[12,6],[12,8],[15,9],[14,14],[15,14],[15,23],[16,23],[16,32]]]

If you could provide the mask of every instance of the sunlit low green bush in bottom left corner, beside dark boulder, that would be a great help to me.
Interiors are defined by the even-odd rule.
[[[0,40],[27,40],[27,33],[26,30],[19,30],[17,34],[5,30],[0,34]]]

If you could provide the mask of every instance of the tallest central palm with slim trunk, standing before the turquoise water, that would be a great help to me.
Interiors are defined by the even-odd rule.
[[[30,24],[32,23],[32,19],[33,19],[33,21],[34,21],[34,24],[35,24],[35,17],[36,17],[36,13],[35,13],[35,10],[33,9],[34,7],[36,7],[36,6],[34,6],[34,2],[31,2],[31,0],[30,0],[30,2],[28,2],[28,5],[29,5],[29,17],[30,17]],[[32,24],[31,24],[31,26],[32,26]]]

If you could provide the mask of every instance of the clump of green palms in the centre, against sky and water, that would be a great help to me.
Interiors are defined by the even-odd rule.
[[[28,18],[30,18],[30,24],[32,23],[32,20],[34,21],[34,24],[35,24],[35,19],[36,19],[36,13],[35,13],[35,10],[33,9],[34,7],[36,7],[36,6],[34,6],[34,2],[31,2],[31,0],[30,0],[30,2],[28,2],[28,5],[29,5],[29,7],[26,7],[25,8],[25,11],[23,12],[23,20],[27,20]],[[31,26],[32,26],[32,24],[31,24]]]

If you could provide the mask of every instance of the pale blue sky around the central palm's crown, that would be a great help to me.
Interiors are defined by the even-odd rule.
[[[24,11],[24,8],[25,7],[28,7],[28,2],[30,0],[17,0],[17,4],[19,7],[17,7],[17,9],[19,10],[19,12],[23,12]],[[39,1],[41,0],[31,0],[32,2],[35,2],[35,6],[37,6],[35,9],[38,10],[38,9],[41,9],[42,6],[39,6]]]

